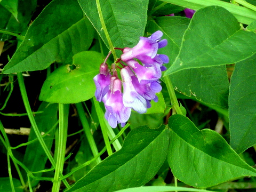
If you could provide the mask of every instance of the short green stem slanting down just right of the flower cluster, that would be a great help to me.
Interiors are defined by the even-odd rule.
[[[172,109],[174,109],[176,111],[177,114],[182,114],[182,111],[180,109],[180,106],[179,106],[179,103],[178,103],[178,100],[177,100],[177,97],[175,95],[175,91],[173,89],[173,86],[172,86],[172,82],[171,82],[171,79],[169,76],[164,76],[164,82],[167,86],[167,90],[169,92],[169,95],[170,95],[170,99],[171,99],[171,104],[172,104]]]

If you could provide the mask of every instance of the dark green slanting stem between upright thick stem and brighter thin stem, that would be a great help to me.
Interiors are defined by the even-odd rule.
[[[97,145],[96,145],[96,143],[95,143],[95,141],[93,139],[92,132],[91,132],[89,123],[87,121],[87,118],[85,117],[85,111],[84,111],[84,108],[83,108],[81,102],[76,103],[76,109],[77,109],[77,113],[79,115],[79,118],[81,120],[81,123],[83,125],[83,129],[84,129],[86,138],[87,138],[87,140],[89,142],[89,145],[91,147],[92,154],[95,157],[95,156],[97,156],[99,154],[99,151],[98,151]],[[97,162],[97,164],[101,162],[100,157],[97,158],[96,162]]]

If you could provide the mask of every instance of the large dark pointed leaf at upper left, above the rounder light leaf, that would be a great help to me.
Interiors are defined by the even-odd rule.
[[[53,62],[71,62],[74,54],[89,49],[92,39],[93,27],[77,1],[54,0],[29,27],[3,73],[42,70]]]

